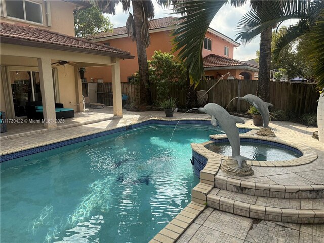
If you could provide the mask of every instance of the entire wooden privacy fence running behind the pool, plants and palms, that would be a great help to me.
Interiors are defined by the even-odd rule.
[[[200,82],[196,90],[209,90],[216,80]],[[256,94],[258,80],[221,80],[208,92],[208,102],[213,102],[226,107],[235,97],[246,94]],[[169,84],[169,96],[178,100],[179,107],[185,107],[187,91],[175,82]],[[98,102],[113,105],[112,83],[97,83]],[[138,103],[139,86],[131,83],[121,83],[121,93],[128,96],[128,103]],[[156,101],[156,84],[151,84],[152,101]],[[319,92],[314,84],[270,82],[270,103],[274,110],[292,111],[298,115],[316,112]],[[228,111],[245,112],[250,104],[245,101],[233,100],[228,106]]]

